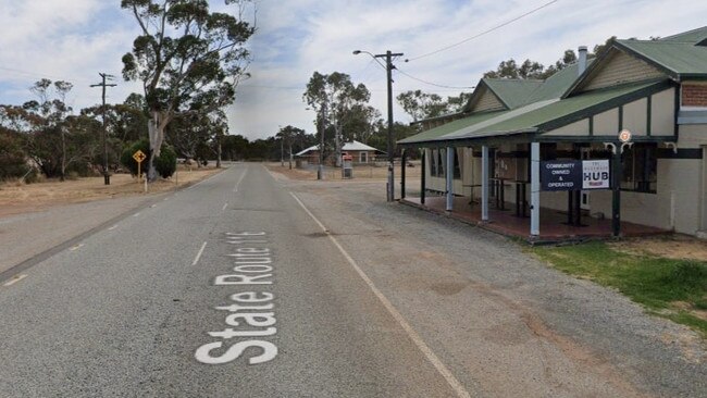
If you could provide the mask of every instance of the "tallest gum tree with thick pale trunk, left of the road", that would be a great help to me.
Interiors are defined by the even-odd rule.
[[[233,13],[209,10],[207,0],[122,0],[140,28],[133,51],[123,55],[123,77],[142,83],[149,110],[150,166],[164,132],[177,114],[209,114],[235,100],[247,76],[246,42],[255,26],[244,20],[248,0],[225,0]]]

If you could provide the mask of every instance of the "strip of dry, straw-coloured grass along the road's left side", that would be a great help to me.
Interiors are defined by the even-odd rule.
[[[170,179],[160,179],[149,186],[149,194],[164,192],[194,184],[220,170],[215,167],[179,167]],[[177,185],[178,179],[178,185]],[[78,178],[74,181],[46,181],[22,184],[17,181],[0,183],[0,217],[39,211],[49,207],[79,203],[115,197],[146,195],[145,185],[129,174],[114,174],[111,185],[103,184],[103,177]]]

